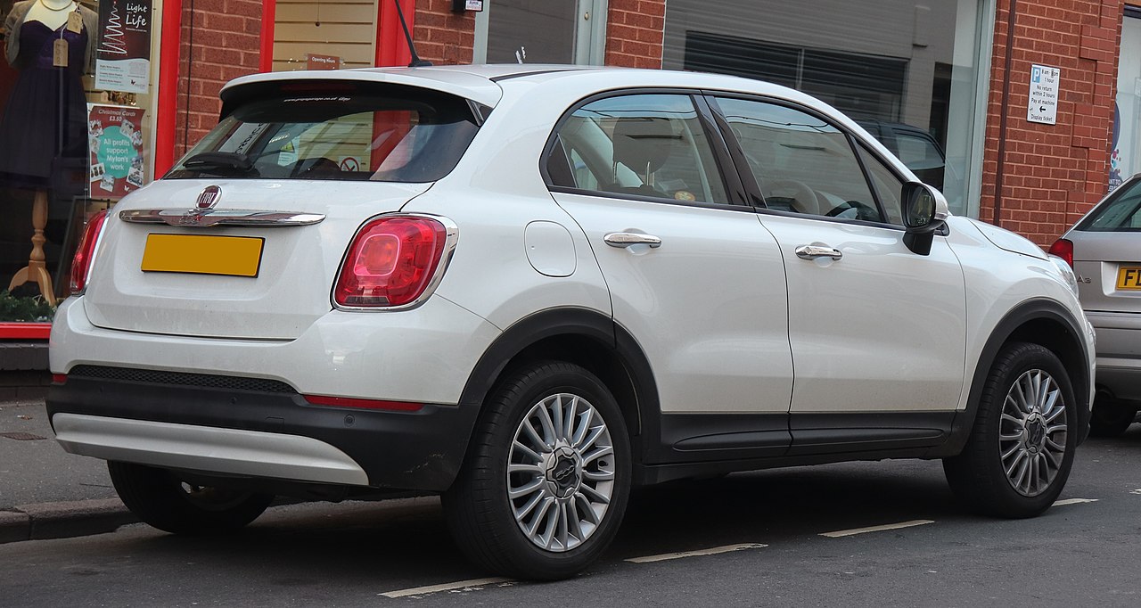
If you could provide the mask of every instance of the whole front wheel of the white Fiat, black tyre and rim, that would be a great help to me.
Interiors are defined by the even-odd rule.
[[[1077,440],[1077,405],[1066,367],[1039,344],[1014,342],[995,358],[966,446],[944,460],[944,471],[972,511],[1034,517],[1066,485]]]

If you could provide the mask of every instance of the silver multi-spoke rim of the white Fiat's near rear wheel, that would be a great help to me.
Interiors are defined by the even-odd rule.
[[[508,500],[519,529],[547,551],[568,551],[598,529],[614,493],[614,445],[601,414],[570,394],[524,416],[508,456]]]

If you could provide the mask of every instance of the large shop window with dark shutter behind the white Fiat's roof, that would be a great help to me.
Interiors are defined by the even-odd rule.
[[[670,0],[663,66],[791,87],[841,110],[958,214],[978,214],[989,0]],[[1123,51],[1124,56],[1124,51]],[[1132,90],[1132,87],[1131,87]]]

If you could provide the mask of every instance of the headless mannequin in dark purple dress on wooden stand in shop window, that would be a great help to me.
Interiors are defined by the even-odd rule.
[[[96,23],[92,10],[72,0],[16,2],[5,19],[6,56],[18,76],[0,120],[0,185],[35,193],[32,253],[8,289],[34,282],[52,305],[43,257],[48,190],[54,172],[68,161],[73,167],[81,163],[87,154],[82,75],[90,65]],[[56,192],[62,197],[75,194]]]

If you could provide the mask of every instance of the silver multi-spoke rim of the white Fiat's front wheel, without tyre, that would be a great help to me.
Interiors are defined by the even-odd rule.
[[[1066,403],[1053,376],[1030,370],[1006,394],[998,425],[998,449],[1006,480],[1019,494],[1050,488],[1066,455]]]

